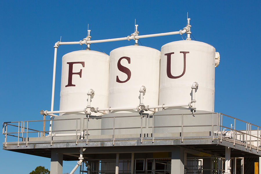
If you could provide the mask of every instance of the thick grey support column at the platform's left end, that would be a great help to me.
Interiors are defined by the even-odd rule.
[[[63,173],[63,154],[57,153],[55,149],[52,149],[50,174],[62,174],[62,173]]]

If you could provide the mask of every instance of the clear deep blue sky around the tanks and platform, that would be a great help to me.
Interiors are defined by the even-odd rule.
[[[197,41],[220,52],[215,69],[215,112],[260,124],[260,6],[261,1],[1,1],[0,3],[0,109],[1,121],[40,120],[50,110],[53,45],[178,31],[186,25]],[[140,39],[143,46],[161,46],[181,40],[180,35]],[[96,44],[107,54],[133,41]],[[84,46],[85,48],[85,46]],[[99,51],[94,45],[92,50]],[[81,50],[60,46],[57,54],[55,110],[59,110],[61,57]],[[257,110],[256,110],[257,109]],[[4,136],[1,136],[2,142]],[[50,169],[50,159],[1,150],[1,173],[27,174],[36,166]],[[76,162],[64,162],[63,173]]]

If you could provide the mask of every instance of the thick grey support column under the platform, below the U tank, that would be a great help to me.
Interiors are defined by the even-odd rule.
[[[171,151],[171,174],[184,174],[184,149],[173,146]]]

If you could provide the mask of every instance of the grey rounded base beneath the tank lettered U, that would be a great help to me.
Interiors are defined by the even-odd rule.
[[[208,111],[196,110],[193,114],[189,109],[162,110],[153,117],[155,134],[176,137],[183,132],[183,136],[211,136],[212,129],[218,130],[217,114]]]

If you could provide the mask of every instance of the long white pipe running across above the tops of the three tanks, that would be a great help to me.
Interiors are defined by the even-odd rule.
[[[182,30],[181,33],[184,34],[186,29]],[[131,40],[131,39],[140,39],[146,37],[157,37],[157,36],[167,36],[167,35],[177,35],[180,34],[179,31],[173,32],[166,32],[166,33],[158,33],[158,34],[151,34],[151,35],[139,35],[139,36],[129,36],[129,37],[120,37],[114,39],[102,39],[102,40],[93,40],[93,41],[81,41],[81,44],[93,44],[93,43],[101,43],[101,42],[113,42],[113,41],[123,41],[123,40]],[[73,45],[79,44],[79,41],[76,42],[59,42],[59,45]]]

